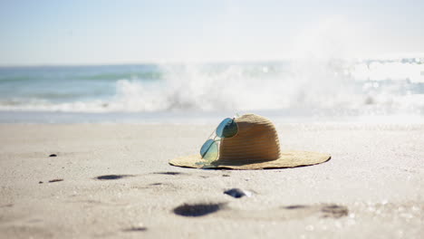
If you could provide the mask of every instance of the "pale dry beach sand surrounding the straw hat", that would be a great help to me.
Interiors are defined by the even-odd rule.
[[[332,154],[312,167],[169,166],[213,128],[0,125],[0,238],[424,238],[423,125],[277,125]]]

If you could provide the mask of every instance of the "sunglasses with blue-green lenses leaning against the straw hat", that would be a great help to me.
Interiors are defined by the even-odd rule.
[[[215,132],[215,137],[210,139]],[[226,118],[219,123],[217,129],[212,132],[207,141],[200,148],[200,156],[203,159],[206,159],[208,162],[217,160],[218,158],[218,142],[224,138],[234,137],[238,132],[238,126],[235,121],[235,118]],[[220,139],[217,139],[220,138]]]

